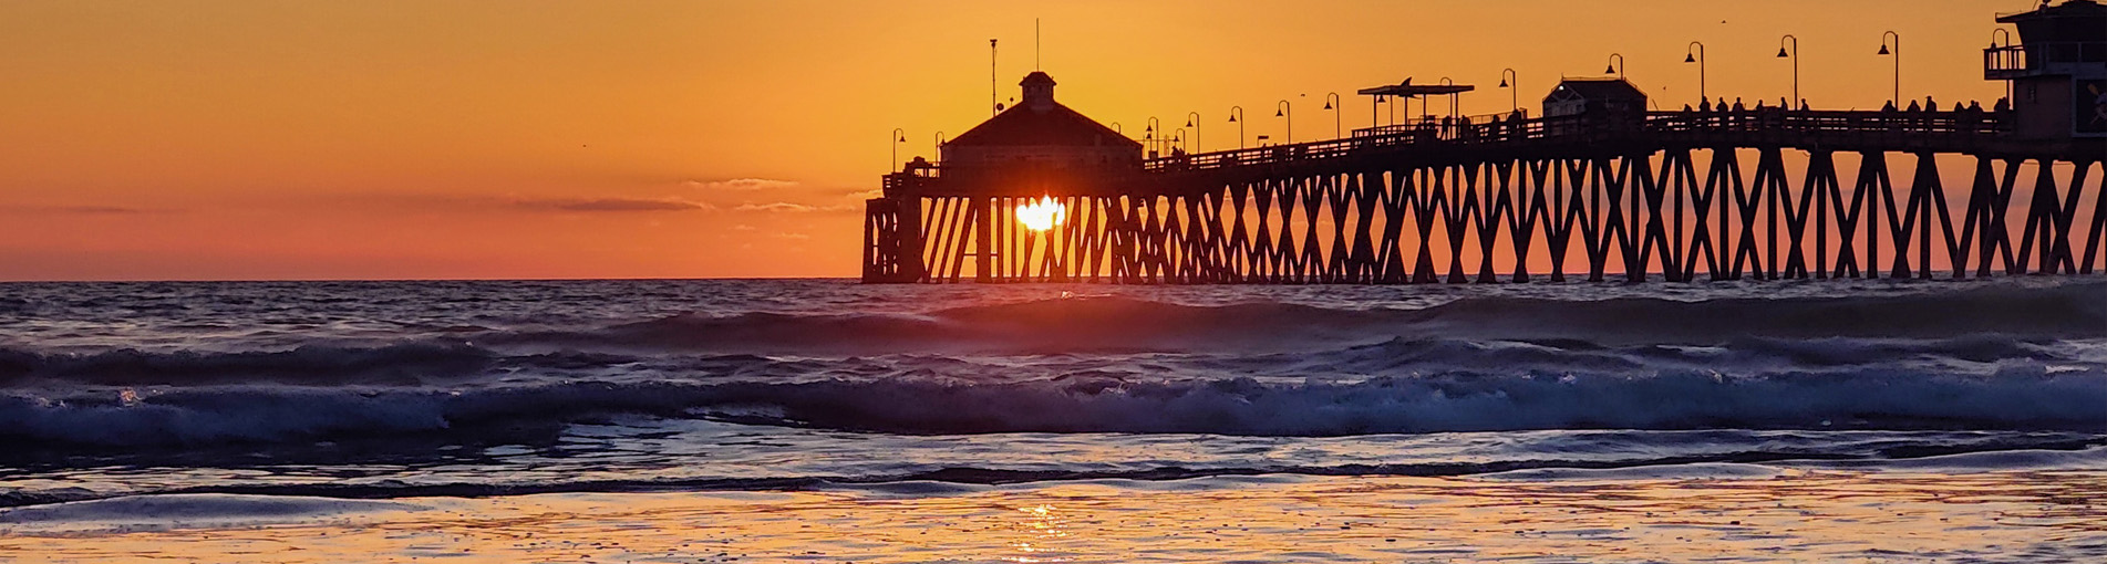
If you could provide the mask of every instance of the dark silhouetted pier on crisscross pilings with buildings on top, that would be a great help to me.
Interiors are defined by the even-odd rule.
[[[1205,154],[1144,156],[1056,103],[1051,76],[1035,72],[1024,101],[944,143],[940,162],[885,175],[866,202],[864,282],[2094,274],[2107,267],[2107,6],[2067,0],[2000,21],[2019,42],[1983,51],[1985,80],[2012,86],[1991,107],[1721,99],[1652,112],[1622,78],[1601,78],[1559,84],[1540,116],[1420,118]],[[1945,179],[1943,160],[1968,179]],[[1022,223],[1020,206],[1037,202],[1062,221]]]

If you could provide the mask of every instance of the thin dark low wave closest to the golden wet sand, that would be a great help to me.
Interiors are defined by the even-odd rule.
[[[166,507],[194,518],[261,520],[278,516],[411,509],[411,505],[343,503],[341,499],[512,497],[550,492],[685,492],[685,490],[853,490],[879,495],[957,495],[1032,482],[1091,482],[1121,488],[1207,488],[1218,482],[1287,482],[1306,476],[1477,476],[1485,480],[1749,480],[1795,469],[1856,471],[2042,471],[2096,469],[2107,446],[2090,442],[1989,444],[1957,455],[1865,459],[1791,450],[1738,450],[1637,459],[1498,459],[1456,463],[1342,465],[1161,465],[1142,469],[1001,469],[940,467],[866,476],[775,478],[579,478],[489,482],[297,482],[198,484],[122,492],[82,488],[0,495],[0,524],[112,522],[139,507]],[[190,518],[185,518],[190,520]]]

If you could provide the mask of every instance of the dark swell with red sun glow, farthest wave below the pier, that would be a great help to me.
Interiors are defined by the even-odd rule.
[[[1587,339],[1715,345],[1774,339],[2107,337],[2107,282],[1981,286],[1888,297],[1675,301],[1466,297],[1420,309],[1298,303],[1182,305],[1129,297],[1043,299],[929,314],[670,316],[590,330],[499,333],[487,343],[792,354],[1306,349],[1389,337]]]

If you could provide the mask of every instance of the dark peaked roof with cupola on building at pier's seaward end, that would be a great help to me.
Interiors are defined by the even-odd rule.
[[[1024,76],[1026,103],[1011,105],[980,122],[971,130],[944,141],[944,145],[954,147],[990,147],[990,145],[1062,145],[1062,147],[1094,147],[1094,145],[1125,145],[1136,152],[1142,149],[1140,141],[1127,139],[1117,130],[1083,116],[1081,112],[1068,109],[1054,101],[1054,78],[1043,72],[1032,72]],[[1045,90],[1032,90],[1045,88]],[[1039,103],[1032,103],[1039,101]]]

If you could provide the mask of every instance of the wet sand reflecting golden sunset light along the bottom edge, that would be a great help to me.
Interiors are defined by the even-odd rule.
[[[2107,471],[1721,465],[386,503],[137,497],[4,511],[0,556],[8,562],[2107,562]]]

